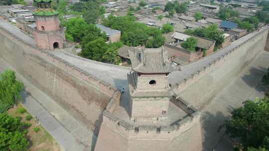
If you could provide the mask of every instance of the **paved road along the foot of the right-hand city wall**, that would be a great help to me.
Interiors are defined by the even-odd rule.
[[[267,89],[260,81],[268,66],[269,52],[264,51],[202,111],[204,151],[233,151],[228,136],[220,140],[224,132],[218,132],[219,126],[242,102],[264,96]]]

